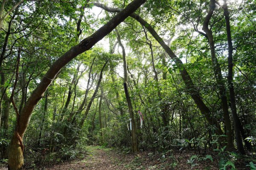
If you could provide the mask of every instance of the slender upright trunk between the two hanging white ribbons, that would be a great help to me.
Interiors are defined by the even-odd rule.
[[[126,97],[126,101],[128,103],[128,109],[129,109],[129,113],[130,113],[130,118],[131,118],[131,141],[132,141],[132,151],[134,153],[138,152],[138,144],[137,144],[137,134],[136,134],[136,124],[134,121],[134,110],[131,104],[131,98],[129,95],[129,91],[128,91],[128,75],[127,75],[127,63],[126,63],[126,55],[125,55],[125,48],[122,45],[121,39],[120,39],[120,35],[118,33],[118,31],[116,30],[116,37],[119,43],[119,46],[121,46],[122,48],[122,57],[123,57],[123,68],[124,68],[124,90],[125,90],[125,97]]]

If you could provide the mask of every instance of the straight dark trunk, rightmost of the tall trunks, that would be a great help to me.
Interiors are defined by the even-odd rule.
[[[243,130],[243,127],[241,125],[241,122],[238,118],[237,112],[236,112],[236,97],[235,97],[235,91],[233,86],[233,44],[232,44],[232,37],[231,37],[231,30],[230,30],[230,18],[229,18],[229,12],[227,8],[227,0],[224,0],[223,4],[224,9],[224,16],[226,20],[226,30],[227,30],[227,44],[228,44],[228,87],[230,92],[230,103],[231,103],[231,113],[233,116],[233,124],[234,124],[234,130],[236,135],[236,145],[238,151],[245,155],[243,142],[241,139],[240,130]],[[249,148],[248,148],[249,149]]]

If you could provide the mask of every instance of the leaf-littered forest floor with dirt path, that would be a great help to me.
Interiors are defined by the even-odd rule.
[[[218,170],[217,159],[195,161],[187,164],[194,155],[191,152],[172,153],[172,156],[140,152],[126,154],[124,151],[89,146],[84,158],[54,165],[46,170]],[[193,165],[193,168],[191,168]]]

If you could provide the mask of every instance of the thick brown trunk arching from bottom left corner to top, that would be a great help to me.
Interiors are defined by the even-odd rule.
[[[52,66],[49,68],[47,73],[42,78],[41,82],[38,84],[38,87],[32,92],[30,98],[23,107],[20,119],[19,126],[15,130],[14,135],[12,136],[12,141],[10,144],[9,150],[9,160],[8,166],[9,170],[20,170],[23,167],[23,150],[21,149],[22,138],[26,132],[26,129],[29,125],[29,121],[38,101],[44,96],[44,92],[47,90],[48,86],[52,83],[52,80],[60,72],[61,68],[64,67],[68,62],[70,62],[77,55],[89,50],[92,48],[99,40],[108,35],[116,26],[119,25],[125,18],[130,14],[135,12],[145,0],[134,0],[132,3],[114,16],[108,23],[99,28],[93,35],[85,38],[79,44],[72,47],[69,51],[64,53],[58,60],[56,60]],[[20,140],[18,140],[20,139]]]

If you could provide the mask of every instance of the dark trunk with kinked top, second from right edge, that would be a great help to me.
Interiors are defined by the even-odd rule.
[[[212,14],[215,10],[215,0],[211,0],[209,12],[204,19],[203,30],[206,33],[207,40],[209,42],[210,50],[211,50],[211,58],[212,58],[212,68],[215,75],[215,80],[218,84],[219,93],[221,95],[221,105],[224,115],[224,122],[226,127],[226,135],[227,135],[227,149],[231,150],[233,148],[233,139],[232,139],[232,129],[231,129],[231,122],[230,116],[228,112],[228,104],[227,104],[227,95],[226,95],[226,88],[224,85],[223,77],[221,74],[221,67],[218,63],[216,52],[215,52],[215,45],[214,45],[214,38],[212,35],[212,31],[208,28],[209,21],[212,17]]]

